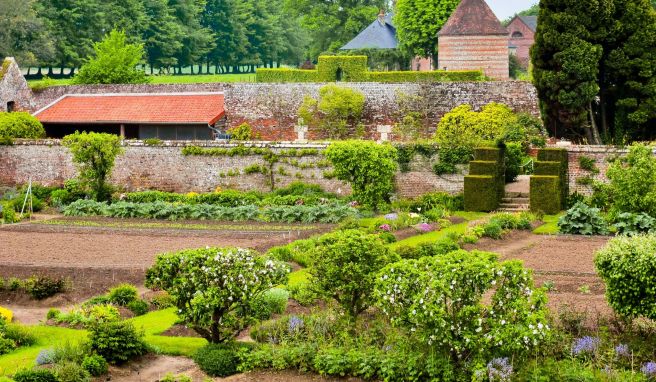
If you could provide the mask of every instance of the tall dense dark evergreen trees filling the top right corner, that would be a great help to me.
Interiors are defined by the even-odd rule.
[[[543,0],[533,77],[547,130],[588,143],[653,139],[656,12],[649,0]]]

